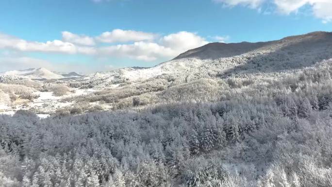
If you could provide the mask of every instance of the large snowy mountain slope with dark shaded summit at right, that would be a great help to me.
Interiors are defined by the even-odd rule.
[[[173,60],[151,68],[121,68],[92,74],[86,79],[102,78],[130,82],[161,75],[179,75],[190,79],[230,74],[276,72],[309,67],[332,58],[332,33],[315,32],[258,43],[210,43],[186,51]]]

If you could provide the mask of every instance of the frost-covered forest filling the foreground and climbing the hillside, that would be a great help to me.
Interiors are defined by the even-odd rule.
[[[0,115],[0,186],[330,187],[331,48],[282,49],[140,81],[112,74],[116,89],[65,98],[75,104],[48,118]],[[61,95],[105,80],[33,85]]]

